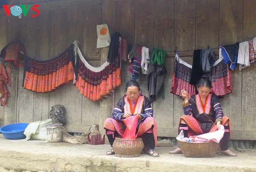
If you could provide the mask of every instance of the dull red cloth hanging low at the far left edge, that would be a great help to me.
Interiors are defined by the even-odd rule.
[[[7,90],[7,82],[8,77],[7,73],[5,71],[5,65],[0,62],[0,103],[1,106],[5,106],[7,103],[7,98],[9,96],[8,90]]]

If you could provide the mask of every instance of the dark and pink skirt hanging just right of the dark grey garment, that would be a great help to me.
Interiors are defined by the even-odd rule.
[[[219,58],[211,68],[209,79],[212,81],[211,92],[222,97],[232,92],[231,69],[222,63],[223,57]]]

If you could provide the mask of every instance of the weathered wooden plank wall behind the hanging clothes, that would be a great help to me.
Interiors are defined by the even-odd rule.
[[[256,36],[253,0],[73,0],[71,4],[67,0],[47,3],[38,0],[37,3],[42,7],[37,18],[0,17],[0,21],[7,24],[5,29],[1,27],[1,47],[18,39],[25,44],[28,56],[47,59],[78,40],[88,63],[99,67],[106,61],[108,48],[96,48],[96,25],[106,22],[111,34],[118,31],[129,41],[129,49],[138,43],[150,49],[168,51],[165,99],[159,95],[152,104],[158,136],[164,137],[177,135],[179,118],[183,114],[182,98],[170,94],[174,47],[178,47],[180,54],[186,54],[181,58],[191,64],[194,49],[208,46],[217,49]],[[18,26],[18,31],[13,29]],[[7,36],[2,39],[5,32]],[[122,85],[115,89],[115,102],[125,93],[125,83],[131,78],[128,65],[122,61]],[[256,140],[256,81],[252,75],[255,72],[254,64],[242,71],[232,71],[233,93],[220,99],[224,114],[231,119],[232,139]],[[18,96],[15,95],[18,99],[16,101],[14,95],[10,98],[13,99],[10,102],[16,101],[16,112],[9,106],[5,110],[0,108],[0,112],[5,112],[5,117],[0,115],[0,121],[5,118],[8,123],[9,113],[16,114],[18,122],[44,120],[53,105],[63,104],[67,109],[69,132],[85,132],[95,123],[104,132],[104,120],[111,117],[112,95],[104,101],[92,102],[82,97],[72,83],[48,94],[34,93],[21,87],[22,78],[21,67],[18,69]],[[145,75],[140,74],[138,81],[147,96]]]

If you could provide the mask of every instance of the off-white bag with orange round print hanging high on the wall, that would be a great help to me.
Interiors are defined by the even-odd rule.
[[[106,23],[97,25],[97,35],[97,48],[108,47],[110,45],[111,38]]]

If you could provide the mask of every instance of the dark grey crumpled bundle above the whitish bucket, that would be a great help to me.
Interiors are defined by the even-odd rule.
[[[50,118],[53,120],[53,123],[66,124],[66,110],[63,105],[54,105],[51,107]]]

